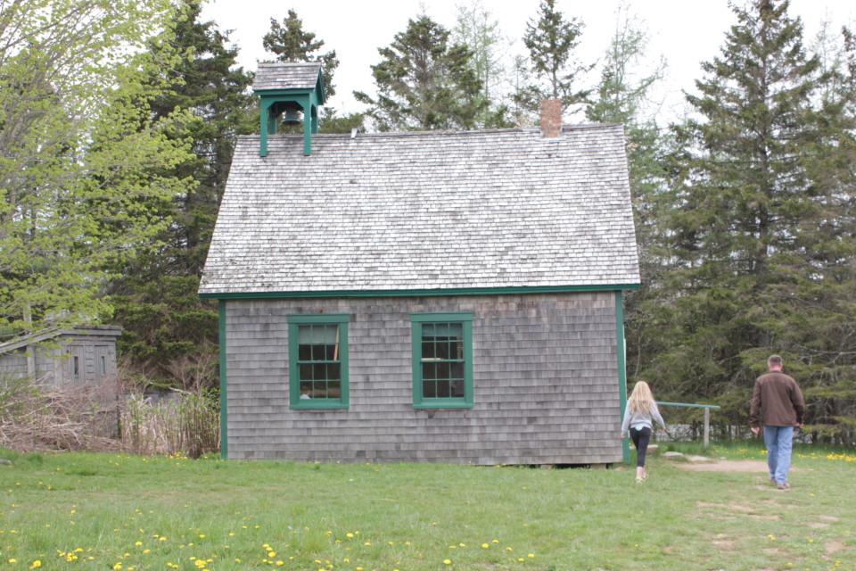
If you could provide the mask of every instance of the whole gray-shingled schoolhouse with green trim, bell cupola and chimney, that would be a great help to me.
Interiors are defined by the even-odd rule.
[[[235,148],[200,287],[224,455],[621,461],[621,126],[546,102],[541,128],[277,135],[320,87],[317,64],[262,66],[263,135]]]

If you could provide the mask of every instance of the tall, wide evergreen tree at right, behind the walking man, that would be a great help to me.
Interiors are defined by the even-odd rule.
[[[671,267],[647,308],[647,335],[662,347],[643,376],[666,381],[671,398],[724,405],[732,425],[745,422],[770,353],[807,393],[828,368],[852,378],[841,343],[853,332],[834,325],[852,303],[856,250],[839,210],[852,194],[821,166],[841,160],[835,147],[850,135],[843,107],[818,101],[828,77],[787,8],[734,7],[720,57],[687,95],[695,116],[675,129]]]

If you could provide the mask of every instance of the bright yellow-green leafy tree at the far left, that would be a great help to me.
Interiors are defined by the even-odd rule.
[[[154,70],[175,54],[141,51],[169,25],[160,0],[0,4],[0,328],[8,335],[109,319],[105,281],[166,227],[156,205],[192,180],[152,118]]]

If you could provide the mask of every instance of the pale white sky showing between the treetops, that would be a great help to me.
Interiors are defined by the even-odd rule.
[[[738,0],[742,3],[744,0]],[[576,17],[584,22],[580,36],[580,62],[593,62],[604,54],[615,29],[616,11],[621,0],[557,0],[565,20]],[[222,30],[234,30],[230,40],[240,48],[238,62],[246,70],[256,70],[257,62],[272,59],[261,46],[261,37],[270,29],[270,19],[282,21],[293,8],[305,31],[314,32],[325,42],[323,51],[336,50],[340,64],[333,77],[336,95],[327,102],[340,112],[362,111],[353,91],[375,93],[371,65],[380,61],[379,47],[389,46],[395,34],[407,28],[407,20],[425,12],[447,29],[457,23],[457,5],[469,0],[315,0],[292,4],[269,0],[209,0],[202,17],[213,20]],[[482,0],[482,5],[499,22],[502,34],[516,38],[512,48],[526,54],[523,37],[527,21],[537,18],[539,0]],[[702,77],[699,62],[720,53],[725,33],[736,23],[727,0],[630,0],[630,13],[642,21],[651,39],[649,56],[654,62],[665,56],[668,68],[657,98],[663,102],[660,122],[681,114],[681,90],[692,91],[693,81]],[[790,13],[802,17],[805,43],[811,41],[821,21],[830,21],[837,33],[842,25],[856,28],[856,2],[852,0],[791,0]],[[588,84],[597,82],[592,71]],[[588,87],[588,86],[580,86]],[[565,117],[568,121],[569,118]]]

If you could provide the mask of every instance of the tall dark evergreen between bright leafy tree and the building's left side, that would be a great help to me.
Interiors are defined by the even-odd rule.
[[[120,352],[137,373],[167,385],[184,375],[177,369],[201,367],[217,352],[217,306],[200,300],[197,290],[235,137],[258,128],[258,107],[248,94],[252,76],[236,66],[237,50],[227,46],[227,34],[201,21],[200,12],[196,0],[178,4],[169,36],[152,43],[154,57],[165,46],[181,57],[150,79],[166,81],[169,88],[148,104],[155,120],[176,110],[190,112],[191,119],[169,137],[190,141],[192,155],[163,174],[197,186],[161,203],[157,214],[169,226],[151,252],[121,268],[123,276],[110,287],[125,329]]]

